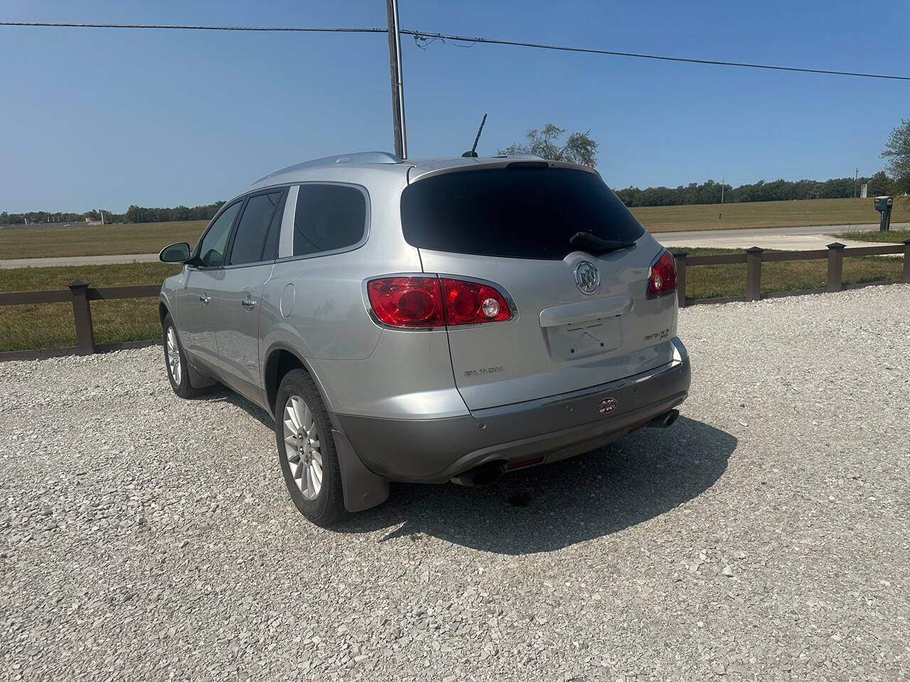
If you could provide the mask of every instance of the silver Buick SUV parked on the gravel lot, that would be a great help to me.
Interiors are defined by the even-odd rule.
[[[670,426],[688,395],[673,258],[579,165],[318,159],[160,257],[184,264],[160,296],[175,393],[275,416],[320,525],[389,481],[483,485]]]

